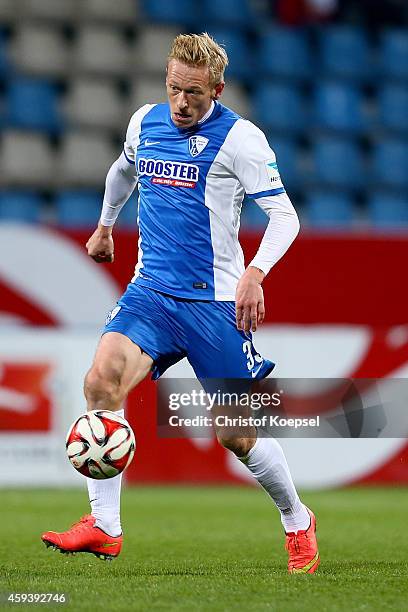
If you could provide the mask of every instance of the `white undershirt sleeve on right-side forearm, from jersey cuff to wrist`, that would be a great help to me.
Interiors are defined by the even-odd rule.
[[[286,193],[257,198],[256,203],[268,215],[269,223],[258,252],[249,265],[268,274],[298,235],[299,219]]]

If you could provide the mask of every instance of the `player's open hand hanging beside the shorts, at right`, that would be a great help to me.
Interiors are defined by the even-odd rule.
[[[256,331],[265,317],[265,303],[261,283],[265,278],[262,270],[250,266],[241,276],[235,294],[237,329]]]

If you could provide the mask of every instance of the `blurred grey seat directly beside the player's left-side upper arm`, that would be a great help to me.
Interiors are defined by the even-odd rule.
[[[119,154],[120,149],[115,150],[110,140],[99,132],[69,132],[57,161],[57,182],[70,187],[101,188]]]

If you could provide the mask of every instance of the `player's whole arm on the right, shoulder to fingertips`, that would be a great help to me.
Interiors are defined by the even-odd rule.
[[[256,331],[264,320],[262,281],[296,238],[299,219],[285,192],[275,154],[264,133],[249,121],[242,123],[242,132],[246,138],[234,159],[234,172],[247,195],[269,217],[258,252],[236,290],[237,328],[248,332]]]

